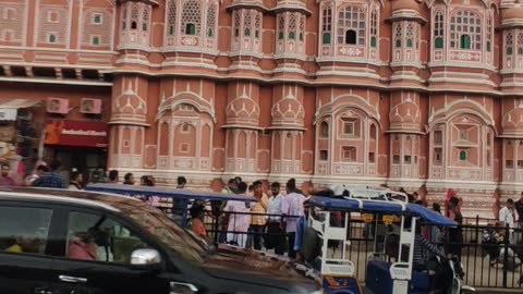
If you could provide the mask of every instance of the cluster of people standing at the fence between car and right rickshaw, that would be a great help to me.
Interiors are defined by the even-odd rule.
[[[267,193],[263,186],[262,181],[247,185],[241,177],[228,181],[222,193],[252,195],[256,201],[228,200],[220,204],[219,210],[224,215],[220,225],[227,233],[221,234],[219,240],[245,248],[273,249],[278,255],[287,252],[290,258],[296,258],[296,249],[301,247],[296,231],[300,230],[299,219],[305,215],[307,197],[297,188],[294,179],[287,182],[284,194],[278,182],[271,183]],[[206,235],[203,225],[205,206],[193,205],[191,216],[193,232]]]

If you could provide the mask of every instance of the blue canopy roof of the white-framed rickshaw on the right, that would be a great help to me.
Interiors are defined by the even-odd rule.
[[[424,222],[440,226],[457,226],[458,223],[421,205],[396,201],[366,200],[354,198],[329,198],[313,196],[308,203],[329,211],[357,211],[375,213],[409,215]]]

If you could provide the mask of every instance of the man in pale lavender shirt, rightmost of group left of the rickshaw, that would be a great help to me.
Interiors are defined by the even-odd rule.
[[[295,259],[294,238],[296,236],[297,219],[303,216],[303,201],[305,196],[297,192],[296,180],[287,182],[287,196],[281,201],[282,228],[289,236],[289,258]],[[284,225],[283,225],[284,224]]]

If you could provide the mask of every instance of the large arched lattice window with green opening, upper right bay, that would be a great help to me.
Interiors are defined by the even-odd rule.
[[[482,20],[471,11],[460,10],[450,19],[450,47],[482,50]]]

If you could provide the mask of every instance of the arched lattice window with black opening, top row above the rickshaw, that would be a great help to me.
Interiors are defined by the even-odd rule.
[[[338,44],[365,46],[365,12],[357,7],[345,7],[338,15]]]

